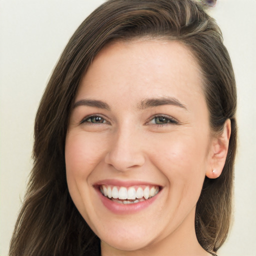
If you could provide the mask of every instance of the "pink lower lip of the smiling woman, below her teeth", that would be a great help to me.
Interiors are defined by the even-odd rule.
[[[110,200],[108,197],[104,196],[98,189],[96,190],[104,206],[115,214],[136,213],[142,209],[145,209],[155,201],[158,194],[160,193],[159,191],[153,197],[141,202],[123,204]]]

